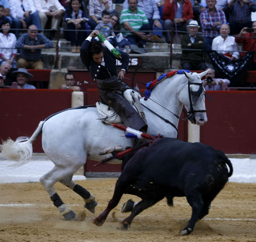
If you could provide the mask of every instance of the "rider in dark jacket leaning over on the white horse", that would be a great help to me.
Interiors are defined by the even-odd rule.
[[[147,124],[140,115],[124,99],[124,91],[130,89],[122,79],[129,64],[129,55],[119,50],[121,58],[115,57],[99,41],[91,41],[99,35],[99,30],[93,30],[81,46],[80,58],[87,70],[90,71],[93,81],[98,82],[100,100],[111,106],[119,114],[124,125],[140,131],[147,130]],[[122,61],[121,70],[117,73],[116,59]]]

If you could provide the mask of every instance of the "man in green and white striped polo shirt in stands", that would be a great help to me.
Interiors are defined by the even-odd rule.
[[[137,8],[137,4],[137,0],[129,0],[129,8],[121,12],[120,24],[124,37],[131,43],[133,52],[144,54],[144,46],[150,37],[151,28],[147,16]]]

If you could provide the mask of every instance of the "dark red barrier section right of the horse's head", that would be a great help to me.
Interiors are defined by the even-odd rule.
[[[256,154],[256,91],[207,91],[208,122],[200,129],[200,142],[226,154]]]

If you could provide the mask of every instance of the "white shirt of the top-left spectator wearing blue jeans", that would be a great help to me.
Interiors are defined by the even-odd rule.
[[[21,0],[9,0],[9,4],[10,15],[12,18],[25,19],[23,17],[25,11],[32,11],[31,13],[36,12],[36,7],[33,0],[23,0],[23,2],[21,2]],[[23,5],[25,11],[23,11],[21,4]]]

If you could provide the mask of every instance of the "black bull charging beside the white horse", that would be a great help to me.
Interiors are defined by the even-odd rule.
[[[122,222],[124,229],[130,227],[136,215],[164,197],[171,206],[173,197],[186,196],[192,207],[192,216],[181,234],[189,234],[197,219],[208,214],[212,200],[232,172],[230,160],[211,146],[175,138],[156,139],[127,162],[116,181],[114,195],[107,209],[93,223],[101,226],[123,194],[136,195],[142,199]]]

